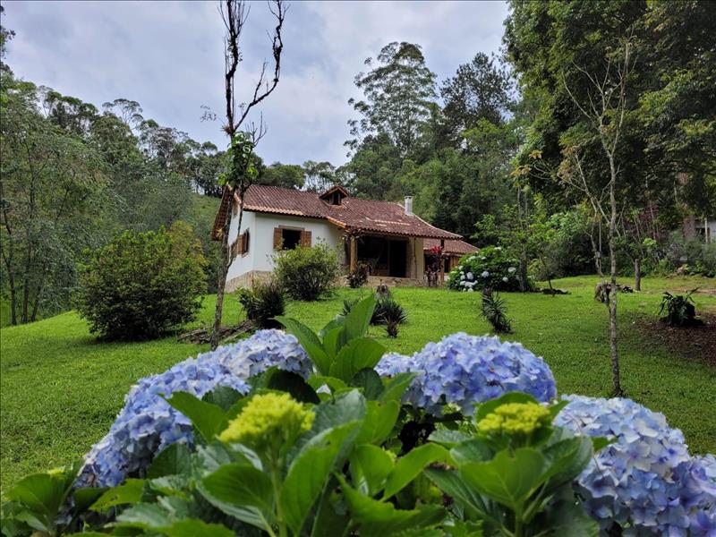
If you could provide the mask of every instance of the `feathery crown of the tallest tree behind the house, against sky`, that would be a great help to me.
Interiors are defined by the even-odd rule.
[[[376,62],[368,58],[365,64],[371,71],[355,77],[365,99],[348,101],[362,117],[348,122],[355,138],[345,143],[355,150],[362,135],[386,133],[402,157],[410,155],[436,98],[435,73],[425,64],[420,45],[405,41],[389,43]]]

